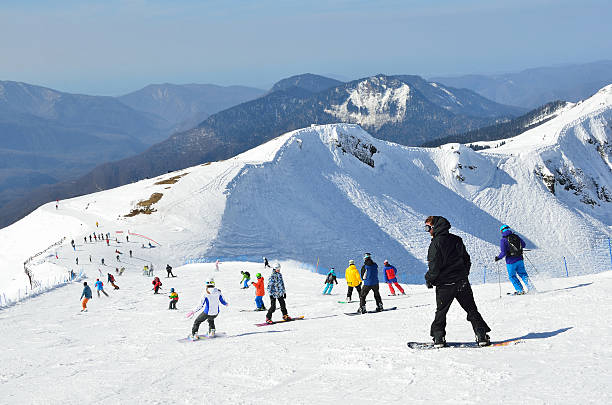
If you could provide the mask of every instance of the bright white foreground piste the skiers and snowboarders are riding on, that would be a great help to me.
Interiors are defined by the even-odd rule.
[[[144,252],[144,250],[143,250]],[[143,253],[139,257],[146,259]],[[377,258],[374,257],[376,260]],[[135,262],[139,260],[133,259]],[[379,261],[380,262],[380,261]],[[79,312],[73,284],[0,312],[1,397],[4,403],[608,403],[612,348],[605,308],[612,304],[612,272],[538,279],[541,293],[506,296],[509,283],[474,286],[493,340],[522,338],[514,346],[414,351],[407,341],[429,341],[434,294],[407,286],[388,297],[398,310],[349,317],[357,304],[339,304],[346,286],[322,296],[322,275],[283,262],[289,314],[306,320],[257,327],[254,289],[241,290],[240,270],[259,263],[226,262],[175,268],[151,291],[140,269],[117,277],[110,297],[94,293]],[[163,273],[163,274],[162,274]],[[229,302],[216,319],[226,337],[179,343],[190,331],[185,314],[214,275]],[[93,282],[93,280],[92,280]],[[178,311],[167,293],[176,288]],[[266,306],[269,305],[265,297]],[[374,303],[368,303],[370,309]],[[280,318],[280,310],[273,316]],[[207,329],[201,326],[201,332]],[[447,339],[473,341],[455,303]]]

